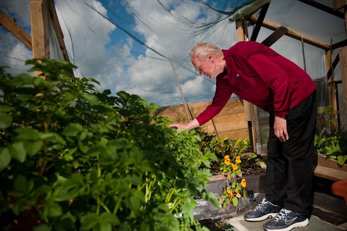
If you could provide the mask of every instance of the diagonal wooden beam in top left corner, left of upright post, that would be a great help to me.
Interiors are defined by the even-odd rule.
[[[14,18],[10,18],[2,10],[0,10],[0,24],[18,38],[19,41],[24,43],[30,50],[33,50],[31,36],[16,24]]]

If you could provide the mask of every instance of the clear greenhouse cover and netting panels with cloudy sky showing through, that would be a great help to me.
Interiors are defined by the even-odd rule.
[[[171,62],[188,103],[212,100],[215,80],[199,77],[188,53],[200,41],[229,49],[237,41],[235,22],[229,18],[259,2],[268,1],[55,0],[55,7],[69,59],[78,66],[77,77],[97,79],[100,90],[126,90],[164,106],[182,103]],[[317,2],[332,8],[330,0]],[[2,0],[0,9],[31,34],[29,0]],[[265,20],[326,44],[346,38],[342,18],[296,0],[272,0]],[[253,28],[249,25],[250,35]],[[271,33],[261,28],[257,41]],[[8,65],[12,74],[25,72],[29,67],[24,60],[32,58],[32,52],[3,27],[0,40],[0,65]],[[53,38],[49,45],[51,57],[62,59]],[[304,68],[301,41],[283,36],[271,48]],[[335,50],[333,59],[337,54]],[[324,56],[323,49],[305,44],[306,71],[322,85]],[[335,80],[341,79],[339,69]]]

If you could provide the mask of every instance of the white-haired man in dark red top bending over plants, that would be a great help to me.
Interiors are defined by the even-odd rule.
[[[257,42],[238,42],[229,50],[197,43],[190,52],[200,75],[216,78],[212,101],[188,124],[190,130],[216,116],[233,93],[269,112],[265,199],[244,215],[265,230],[308,225],[316,124],[316,84],[298,65]]]

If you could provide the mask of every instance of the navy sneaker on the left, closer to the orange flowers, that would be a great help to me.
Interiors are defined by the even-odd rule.
[[[281,209],[281,205],[272,204],[264,198],[253,211],[245,213],[243,218],[246,221],[263,221],[269,217],[275,217]]]

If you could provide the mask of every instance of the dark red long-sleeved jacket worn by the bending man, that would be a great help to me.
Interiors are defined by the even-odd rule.
[[[316,88],[302,68],[258,42],[238,42],[222,52],[227,70],[216,77],[212,104],[196,117],[200,125],[215,117],[233,93],[275,116],[285,116]]]

